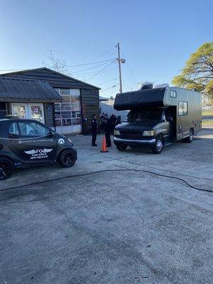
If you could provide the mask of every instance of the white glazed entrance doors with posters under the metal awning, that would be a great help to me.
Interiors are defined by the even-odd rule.
[[[35,119],[45,122],[43,104],[40,103],[13,103],[12,114],[20,116],[21,119]]]

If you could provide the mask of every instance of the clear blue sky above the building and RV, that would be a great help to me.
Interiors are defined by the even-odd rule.
[[[0,73],[50,66],[52,50],[69,75],[114,96],[119,42],[123,92],[170,83],[213,40],[212,11],[212,0],[0,0]]]

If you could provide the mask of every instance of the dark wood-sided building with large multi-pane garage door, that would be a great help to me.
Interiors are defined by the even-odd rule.
[[[18,79],[21,81],[28,80],[28,82],[45,82],[46,85],[48,84],[49,91],[50,89],[52,89],[51,93],[55,91],[60,95],[60,101],[58,99],[56,99],[56,101],[51,101],[51,119],[51,107],[50,102],[46,101],[46,99],[48,99],[48,97],[45,97],[46,93],[43,93],[43,101],[42,99],[40,99],[40,104],[38,104],[38,99],[36,99],[35,102],[37,105],[34,106],[34,109],[35,111],[40,112],[41,121],[43,121],[48,126],[50,126],[50,124],[53,124],[58,133],[91,133],[92,115],[99,115],[98,87],[87,84],[80,80],[76,80],[75,78],[61,74],[54,70],[50,70],[46,67],[1,74],[2,80],[4,77],[10,78],[11,81],[12,79],[16,79],[17,82]],[[11,113],[18,114],[26,118],[31,118],[33,107],[32,103],[34,103],[32,102],[33,96],[35,96],[35,93],[41,94],[41,91],[35,90],[35,92],[30,94],[28,98],[25,97],[25,99],[23,99],[22,97],[20,97],[22,89],[20,89],[20,86],[18,87],[18,84],[16,83],[11,83],[13,85],[13,87],[11,88],[18,89],[17,96],[19,97],[16,96],[16,100],[13,100],[13,98],[9,97],[11,98],[11,102],[6,101],[6,97],[4,97],[3,94],[4,90],[0,89],[0,102],[5,103],[3,103],[2,105],[0,104],[0,114],[2,115],[4,113]],[[49,105],[47,105],[47,103]],[[49,118],[46,117],[47,108],[49,108]]]

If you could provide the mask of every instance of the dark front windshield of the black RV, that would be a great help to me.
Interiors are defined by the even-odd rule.
[[[160,121],[162,109],[142,109],[129,111],[125,121]]]

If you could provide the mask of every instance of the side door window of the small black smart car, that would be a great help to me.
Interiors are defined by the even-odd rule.
[[[50,129],[35,122],[18,122],[21,136],[47,136]]]

